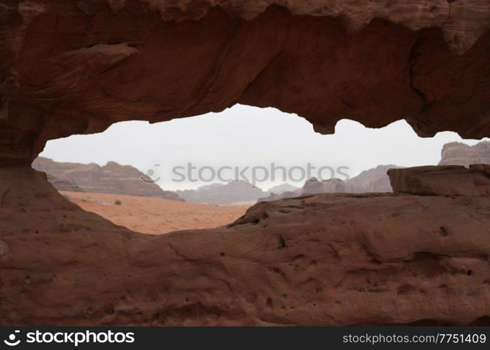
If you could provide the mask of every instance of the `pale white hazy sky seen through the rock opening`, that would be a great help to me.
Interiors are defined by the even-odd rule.
[[[343,170],[344,173],[356,176],[377,165],[437,165],[442,145],[451,141],[470,145],[479,142],[462,140],[454,132],[440,132],[433,138],[423,139],[404,120],[382,129],[367,129],[360,123],[340,120],[335,134],[321,135],[313,131],[307,120],[295,114],[237,105],[221,113],[153,125],[141,121],[117,123],[101,134],[49,141],[41,155],[59,162],[99,165],[113,160],[145,173],[152,169],[151,178],[160,178],[158,184],[162,188],[176,190],[210,183],[173,181],[182,176],[176,176],[172,169],[182,167],[179,174],[188,174],[188,163],[197,167],[193,170],[194,177],[202,167],[212,167],[215,171],[223,166],[237,167],[239,171],[253,166],[270,169],[271,162],[286,169],[306,168],[308,162],[317,168],[345,166],[349,169]],[[225,169],[222,177],[228,178],[234,171]],[[244,173],[248,179],[250,172],[251,169]],[[263,171],[257,174],[260,178],[264,176]],[[283,172],[277,174],[281,178]],[[301,178],[301,172],[291,174],[295,175],[294,179]],[[211,170],[202,169],[202,176],[209,179]],[[294,179],[288,178],[288,182],[302,186],[304,179],[297,182]],[[267,179],[257,186],[267,189],[282,183],[281,180]]]

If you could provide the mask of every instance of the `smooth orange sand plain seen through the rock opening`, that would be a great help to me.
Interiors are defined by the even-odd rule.
[[[176,230],[216,228],[232,223],[248,207],[176,202],[160,198],[62,191],[71,202],[117,225],[137,232],[161,234]],[[121,204],[114,204],[120,200]]]

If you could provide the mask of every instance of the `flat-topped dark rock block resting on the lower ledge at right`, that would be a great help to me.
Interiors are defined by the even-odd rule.
[[[388,170],[395,193],[490,196],[490,165],[412,167]]]

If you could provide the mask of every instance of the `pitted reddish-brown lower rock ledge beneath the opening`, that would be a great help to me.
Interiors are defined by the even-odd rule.
[[[489,324],[490,197],[304,195],[160,236],[31,169],[0,198],[1,325]]]

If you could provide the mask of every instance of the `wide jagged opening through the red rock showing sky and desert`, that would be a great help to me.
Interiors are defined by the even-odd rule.
[[[335,134],[322,135],[296,115],[236,105],[221,113],[156,124],[128,121],[99,134],[52,140],[33,167],[82,209],[137,232],[234,221],[265,230],[269,213],[242,217],[258,201],[391,192],[387,169],[437,165],[444,145],[454,141],[479,142],[454,132],[421,138],[405,120],[381,129],[340,120]],[[301,209],[297,202],[274,215]],[[69,228],[69,217],[65,221]],[[440,227],[440,235],[447,230]]]

